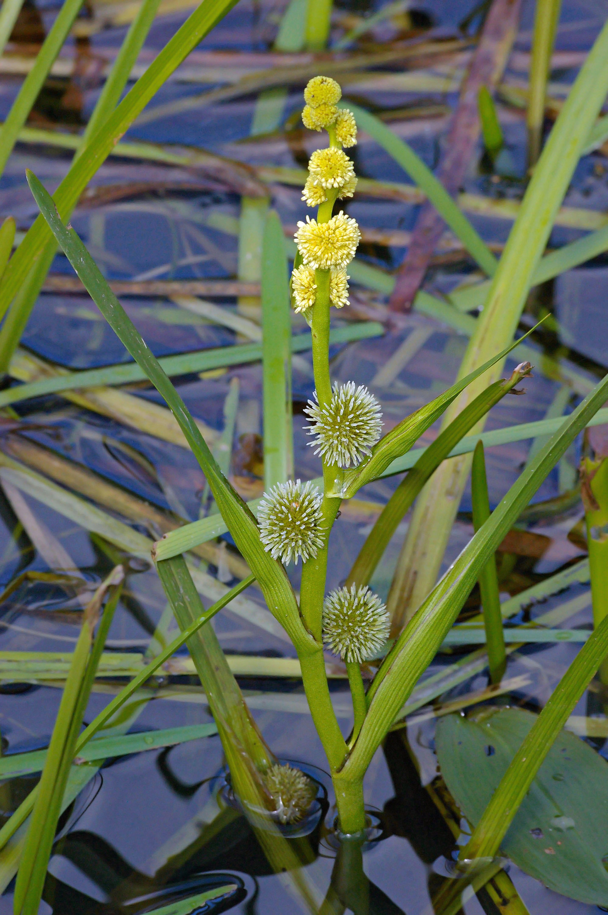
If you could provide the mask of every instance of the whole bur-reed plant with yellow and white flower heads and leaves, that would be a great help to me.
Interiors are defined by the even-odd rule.
[[[345,148],[357,142],[357,128],[352,113],[337,107],[340,87],[335,81],[315,78],[306,87],[304,98],[304,124],[319,132],[325,130],[329,137],[329,145],[311,156],[304,199],[310,207],[316,208],[316,214],[314,219],[307,217],[298,224],[295,236],[298,253],[292,276],[293,307],[304,313],[311,328],[315,398],[307,410],[308,432],[312,447],[322,458],[323,481],[321,485],[299,479],[276,482],[264,494],[257,522],[221,473],[186,406],[127,318],[78,235],[65,226],[37,178],[28,173],[28,181],[43,218],[69,262],[133,359],[176,416],[206,474],[224,522],[261,587],[268,608],[293,641],[304,691],[334,782],[338,829],[341,834],[356,835],[365,830],[367,823],[363,779],[369,762],[451,629],[475,581],[493,558],[496,546],[550,468],[605,401],[608,381],[599,384],[577,410],[563,420],[498,509],[481,523],[472,541],[392,647],[388,640],[387,609],[369,589],[368,581],[352,580],[348,586],[327,594],[329,538],[341,501],[352,497],[365,483],[378,479],[396,458],[402,458],[461,392],[504,360],[517,344],[502,351],[488,346],[485,360],[474,371],[431,404],[406,416],[384,436],[381,435],[379,404],[373,395],[354,382],[332,384],[329,367],[331,309],[347,307],[348,264],[359,239],[357,222],[343,210],[336,212],[335,208],[337,201],[352,196],[356,187],[357,178]],[[454,424],[451,436],[444,435],[441,447],[432,452],[432,460],[419,468],[419,483],[428,479],[478,416],[483,416],[528,371],[529,365],[522,364],[507,382],[494,382],[477,395],[463,421]],[[277,398],[283,402],[283,397],[281,388]],[[279,416],[283,428],[283,410]],[[446,433],[448,429],[450,426]],[[405,501],[400,502],[401,512],[404,504]],[[399,515],[399,511],[387,519],[388,525],[394,524],[395,514]],[[376,536],[378,531],[372,532],[371,553]],[[303,569],[298,600],[285,565],[300,560]],[[159,560],[157,565],[176,617],[184,627],[188,618],[179,607],[189,606],[192,614],[198,600],[187,566],[179,556]],[[354,727],[350,735],[344,735],[338,727],[331,703],[324,644],[347,665],[354,710]],[[378,668],[367,690],[361,662],[375,662]],[[202,669],[199,673],[201,678],[209,675]],[[213,690],[215,686],[208,681],[207,688]],[[242,708],[240,703],[239,707]],[[248,733],[249,726],[244,725],[242,734],[245,744],[258,741],[257,746],[251,744],[250,748],[243,748],[241,744],[242,752],[235,753],[230,727],[230,721],[229,727],[220,727],[220,736],[232,767],[235,790],[241,792],[241,800],[247,807],[256,790],[268,798],[268,778],[274,765],[272,752],[265,747],[251,721],[251,731]],[[248,777],[243,774],[245,770]],[[266,808],[272,813],[272,803],[267,803]]]

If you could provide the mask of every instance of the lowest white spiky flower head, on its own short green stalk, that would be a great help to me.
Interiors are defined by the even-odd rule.
[[[323,640],[343,661],[369,661],[389,638],[389,612],[367,585],[338,587],[323,604]]]

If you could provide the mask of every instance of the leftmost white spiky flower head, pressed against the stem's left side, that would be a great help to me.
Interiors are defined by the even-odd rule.
[[[310,481],[278,483],[258,508],[261,543],[272,559],[297,565],[302,556],[305,563],[323,546],[321,517],[321,493]]]

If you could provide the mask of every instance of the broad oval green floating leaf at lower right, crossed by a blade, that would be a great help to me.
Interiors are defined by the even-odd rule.
[[[476,825],[537,716],[518,708],[451,715],[437,726],[443,779]],[[608,763],[561,731],[502,844],[502,851],[549,889],[608,906]]]

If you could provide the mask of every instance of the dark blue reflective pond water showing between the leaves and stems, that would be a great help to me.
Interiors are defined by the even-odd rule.
[[[360,15],[372,7],[376,8],[376,5],[368,4],[367,0],[337,5],[336,35],[340,17]],[[56,8],[54,3],[37,4],[39,27],[48,27]],[[425,14],[422,21],[426,19],[427,24],[432,24],[435,34],[457,36],[461,34],[464,20],[471,15],[472,23],[464,28],[470,33],[475,27],[475,16],[478,16],[475,9],[475,2],[471,0],[426,2],[421,5]],[[170,81],[158,93],[153,105],[174,102],[223,82],[218,66],[215,76],[211,71],[207,52],[246,52],[245,67],[255,66],[255,61],[251,64],[251,54],[263,54],[271,47],[282,11],[280,3],[240,0],[193,55],[197,75],[192,81]],[[33,7],[31,12],[32,15],[36,12]],[[577,62],[577,52],[591,47],[607,14],[608,4],[604,0],[568,0],[564,3],[557,38],[557,49],[564,53],[560,65],[551,74],[557,96],[563,98],[581,62],[580,53]],[[146,42],[146,59],[165,44],[186,15],[177,12],[156,22]],[[533,4],[525,2],[505,77],[505,82],[515,87],[525,84],[532,19]],[[125,27],[108,27],[94,34],[90,53],[110,56],[124,34]],[[386,45],[399,37],[399,21],[385,23],[374,35],[377,42]],[[568,58],[565,52],[571,52],[571,57]],[[221,66],[238,68],[234,57]],[[457,73],[459,67],[462,67],[462,61],[448,60],[436,70],[426,72],[425,78],[434,82],[424,83],[421,77],[418,87],[403,82],[400,88],[398,80],[391,82],[388,89],[382,88],[381,81],[370,79],[368,86],[358,82],[353,84],[352,92],[345,91],[345,96],[367,103],[377,111],[399,110],[406,106],[417,108],[418,117],[395,115],[391,124],[433,166],[441,155],[441,137],[448,113],[457,101],[456,83],[451,81],[451,73]],[[0,81],[3,117],[19,84],[10,76]],[[49,82],[37,102],[33,123],[52,125],[58,116],[64,124],[84,123],[100,91],[99,81],[84,80],[76,87],[72,85],[72,90],[76,88],[77,92],[71,108],[61,102],[68,88],[65,80]],[[255,139],[251,139],[256,109],[253,97],[135,124],[128,139],[200,146],[254,165],[303,167],[306,157],[315,148],[314,138],[304,137],[298,131],[293,131],[287,138],[283,132],[283,124],[290,123],[291,114],[302,104],[301,92],[300,86],[289,88],[278,129],[265,134],[258,130]],[[506,105],[499,107],[499,111],[514,173],[523,176],[523,115]],[[365,138],[357,145],[355,158],[357,173],[361,176],[408,180],[379,146]],[[14,215],[18,230],[26,230],[36,215],[36,208],[25,182],[25,167],[32,168],[49,188],[53,188],[66,173],[69,161],[69,156],[58,149],[17,145],[0,183],[1,214]],[[565,205],[607,210],[607,169],[608,162],[601,154],[583,158]],[[92,184],[100,190],[135,182],[144,182],[146,187],[142,192],[131,195],[125,192],[119,195],[120,199],[104,201],[100,191],[98,205],[81,206],[72,219],[74,228],[88,243],[108,278],[139,281],[224,279],[233,277],[239,270],[243,278],[256,278],[247,275],[247,264],[242,257],[241,261],[239,259],[240,198],[236,194],[221,186],[201,188],[204,182],[186,168],[124,158],[109,159]],[[517,177],[489,174],[479,147],[464,181],[464,190],[493,199],[520,199],[524,182]],[[284,225],[294,226],[304,218],[306,210],[300,200],[299,188],[275,185],[273,194],[273,205]],[[395,269],[404,254],[404,233],[411,231],[417,208],[403,202],[360,198],[349,201],[347,209],[364,229],[383,231],[388,237],[388,242],[383,244],[364,240],[360,256],[369,264]],[[484,216],[472,219],[487,242],[499,246],[506,240],[509,221]],[[549,244],[557,247],[580,234],[567,225],[560,225]],[[53,271],[69,274],[69,265],[63,257],[56,258]],[[433,262],[426,285],[431,291],[445,293],[467,278],[473,278],[473,266],[464,255],[445,254]],[[557,332],[545,335],[533,345],[539,350],[539,360],[541,347],[553,353],[559,350],[563,364],[577,373],[578,387],[575,384],[573,388],[567,388],[538,371],[527,383],[525,397],[507,399],[492,411],[488,428],[538,420],[548,412],[549,415],[569,412],[580,400],[581,393],[602,376],[608,366],[607,293],[608,262],[605,258],[597,258],[592,264],[564,274],[556,282],[539,289],[530,300],[529,312],[538,313],[541,307],[549,308],[554,311],[559,325]],[[356,294],[366,301],[380,304],[384,301],[381,296],[364,290]],[[230,313],[236,311],[234,297],[213,301]],[[124,297],[123,304],[159,356],[229,345],[237,339],[233,330],[200,318],[163,297]],[[240,307],[253,320],[259,318],[255,299],[241,301]],[[346,324],[344,319],[336,319],[336,327]],[[297,327],[304,329],[304,324]],[[418,335],[414,338],[418,344],[390,375],[384,371],[389,357],[400,350],[412,334]],[[122,344],[87,296],[43,293],[27,325],[23,344],[44,359],[72,369],[128,361]],[[465,346],[464,335],[414,312],[405,328],[399,331],[336,346],[332,350],[332,371],[336,379],[368,384],[381,400],[385,418],[397,422],[453,379]],[[252,498],[261,492],[261,480],[255,473],[255,455],[251,453],[251,441],[255,440],[252,436],[261,434],[260,364],[211,372],[202,377],[190,374],[178,380],[178,388],[195,416],[221,430],[224,404],[234,379],[240,382],[240,400],[232,469],[239,476],[240,485],[244,489],[249,487],[247,494]],[[160,403],[149,388],[140,385],[130,390],[147,401]],[[312,391],[312,360],[309,353],[304,352],[293,364],[295,465],[296,475],[303,479],[315,477],[320,469],[311,449],[305,447],[306,438],[300,422],[302,406]],[[153,506],[175,511],[187,520],[198,517],[205,480],[196,461],[185,449],[60,397],[18,404],[18,414],[27,424],[22,437],[28,442],[47,447],[77,465],[90,468]],[[529,444],[525,441],[488,450],[490,498],[494,504],[517,479],[528,457]],[[578,443],[571,449],[549,475],[535,500],[555,500],[572,489],[580,448],[581,443]],[[396,483],[396,480],[387,479],[370,485],[363,492],[363,499],[385,502]],[[80,623],[79,595],[91,583],[99,581],[117,556],[123,554],[40,501],[27,495],[24,498],[38,524],[38,538],[34,544],[18,522],[11,501],[0,494],[0,578],[3,586],[23,572],[59,573],[61,569],[53,559],[58,555],[57,550],[53,552],[56,544],[64,555],[67,554],[62,567],[80,569],[80,578],[74,578],[72,574],[69,583],[25,578],[0,608],[3,624],[0,650],[71,651]],[[470,511],[467,491],[453,528],[446,564],[472,534]],[[513,554],[512,559],[507,557],[503,582],[505,597],[507,592],[516,593],[529,587],[584,555],[580,544],[567,537],[581,514],[581,503],[574,498],[565,511],[558,511],[554,505],[551,511],[531,523],[530,530],[538,535],[542,548],[536,552],[532,550],[530,554],[522,545],[520,554]],[[349,560],[363,543],[374,517],[373,511],[366,514],[363,506],[357,511],[344,511],[336,522],[328,588],[336,587],[346,576]],[[406,529],[407,522],[404,522],[372,583],[383,596],[388,592]],[[150,533],[143,526],[138,530]],[[229,544],[228,536],[225,540]],[[151,644],[155,627],[160,625],[166,631],[169,623],[165,597],[154,569],[141,561],[133,562],[131,568],[110,633],[113,651],[145,651]],[[230,572],[225,568],[210,565],[208,572],[212,576],[219,574],[222,580],[230,580]],[[297,579],[296,570],[293,573],[296,585]],[[254,602],[261,600],[255,592],[248,596]],[[592,611],[588,587],[584,584],[572,586],[565,593],[549,598],[541,611],[566,604],[571,609],[565,613],[565,625],[590,628]],[[533,618],[539,612],[538,607],[533,607],[529,614]],[[240,655],[294,656],[288,642],[252,625],[243,616],[224,612],[216,619],[215,627],[226,651]],[[519,677],[520,686],[511,694],[510,701],[538,710],[576,651],[577,647],[572,644],[554,644],[533,645],[512,654],[506,676]],[[432,670],[450,662],[453,662],[453,656],[439,655]],[[482,689],[486,684],[486,672],[476,673],[443,698]],[[289,678],[240,678],[240,685],[277,756],[323,770],[324,755],[307,712],[301,682]],[[158,692],[161,689],[163,692]],[[157,695],[145,694],[144,701],[130,709],[133,731],[195,725],[211,720],[196,678],[165,678],[155,683],[155,691]],[[19,689],[0,687],[0,693],[3,753],[47,746],[59,706],[59,689],[30,684]],[[332,694],[346,733],[351,724],[346,682],[334,681]],[[107,698],[107,687],[100,685],[95,689],[86,720],[91,720]],[[588,712],[603,714],[594,694],[583,696],[574,715],[585,716]],[[453,856],[453,834],[430,802],[427,791],[437,777],[434,731],[432,717],[418,723],[412,721],[409,727],[389,738],[387,747],[377,753],[368,770],[366,802],[369,810],[379,816],[381,832],[377,834],[379,841],[371,843],[364,852],[365,872],[370,882],[370,910],[382,915],[398,912],[432,915],[430,894],[445,874],[445,860]],[[581,733],[585,733],[584,730]],[[603,753],[603,737],[593,738],[592,743]],[[308,844],[306,866],[296,874],[273,874],[246,821],[239,816],[226,817],[225,812],[219,811],[217,785],[222,765],[219,738],[205,737],[168,750],[150,750],[110,760],[99,770],[91,767],[90,780],[61,825],[61,838],[51,858],[45,890],[48,901],[43,903],[41,911],[52,910],[57,915],[147,911],[230,881],[238,890],[208,910],[230,909],[243,915],[313,910],[304,898],[307,893],[311,899],[320,900],[325,896],[334,867],[335,848],[322,834],[323,829],[317,829],[305,840]],[[320,778],[323,780],[323,776]],[[34,780],[35,777],[24,776],[0,785],[0,815],[6,816],[15,809]],[[608,791],[608,780],[606,785]],[[329,802],[332,802],[331,790]],[[331,824],[332,819],[330,809],[326,823]],[[515,865],[509,867],[510,877],[531,915],[549,912],[551,915],[586,915],[596,910],[544,888]],[[307,886],[305,891],[304,884]],[[169,895],[167,888],[170,888]],[[0,898],[0,915],[12,911],[12,889],[13,884],[10,884]],[[466,915],[482,911],[495,915],[498,910],[488,906],[487,900],[480,901],[472,894],[464,900],[463,911]]]

